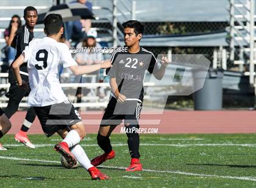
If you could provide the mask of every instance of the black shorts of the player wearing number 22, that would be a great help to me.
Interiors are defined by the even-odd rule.
[[[123,119],[124,124],[138,125],[141,109],[140,101],[117,102],[116,98],[112,97],[105,109],[101,126],[117,126]]]

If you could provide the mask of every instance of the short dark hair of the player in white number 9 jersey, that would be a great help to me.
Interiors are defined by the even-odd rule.
[[[46,35],[57,34],[63,27],[62,15],[49,14],[46,16],[46,18],[44,18],[43,24]]]

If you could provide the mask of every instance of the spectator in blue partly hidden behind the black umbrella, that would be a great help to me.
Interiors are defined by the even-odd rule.
[[[93,4],[91,2],[88,2],[87,0],[77,0],[72,1],[70,3],[79,2],[80,4],[84,4],[87,6],[91,12],[93,11]],[[73,42],[77,44],[77,42],[80,42],[81,39],[85,38],[85,34],[90,30],[91,28],[91,19],[80,19],[77,21],[69,21],[67,22],[67,33],[68,37],[67,39],[71,39]]]

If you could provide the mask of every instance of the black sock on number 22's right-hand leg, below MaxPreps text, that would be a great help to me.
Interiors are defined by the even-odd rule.
[[[130,125],[127,126],[126,129],[131,129],[132,127],[137,127],[137,125]],[[129,147],[129,151],[130,151],[130,156],[132,158],[140,158],[140,152],[139,152],[139,147],[140,147],[140,135],[138,134],[138,132],[131,132],[126,133],[128,139],[127,139],[127,144]]]

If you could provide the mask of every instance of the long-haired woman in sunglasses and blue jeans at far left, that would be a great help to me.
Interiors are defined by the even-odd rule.
[[[5,29],[4,31],[4,39],[6,42],[6,47],[5,47],[5,57],[6,57],[6,62],[7,62],[7,70],[9,69],[9,65],[13,62],[15,58],[15,49],[10,46],[12,43],[12,40],[14,36],[16,35],[16,32],[18,29],[21,27],[21,18],[18,15],[13,15],[12,19],[10,21],[9,27]],[[5,71],[4,71],[5,72]],[[6,71],[7,72],[7,71]]]

